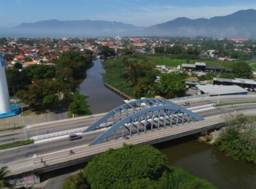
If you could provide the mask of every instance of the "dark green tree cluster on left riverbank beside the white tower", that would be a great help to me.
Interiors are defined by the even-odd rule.
[[[16,95],[33,111],[68,107],[79,115],[89,115],[85,96],[75,92],[92,66],[92,53],[70,51],[60,54],[55,65],[30,65],[21,71],[6,70],[10,95]],[[79,106],[78,106],[79,104]]]

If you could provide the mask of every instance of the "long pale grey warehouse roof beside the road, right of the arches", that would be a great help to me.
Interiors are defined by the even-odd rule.
[[[197,86],[203,93],[209,93],[212,95],[232,95],[238,93],[248,93],[246,89],[239,87],[237,85],[199,85]]]

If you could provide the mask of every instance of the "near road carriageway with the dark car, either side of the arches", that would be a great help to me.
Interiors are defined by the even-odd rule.
[[[214,109],[205,109],[199,111],[198,114],[204,118],[212,117],[214,115],[221,115],[224,113],[234,112],[234,111],[256,111],[256,104],[243,104],[229,107],[219,107]],[[83,139],[69,141],[68,138],[49,140],[47,142],[38,142],[36,144],[31,144],[27,146],[21,146],[19,148],[11,148],[8,150],[0,151],[0,166],[1,164],[19,161],[21,159],[29,159],[34,154],[40,156],[47,153],[53,153],[55,151],[67,151],[69,153],[70,149],[75,151],[75,148],[79,146],[86,146],[92,140],[96,139],[100,133],[103,131],[92,131],[91,133],[84,133]]]

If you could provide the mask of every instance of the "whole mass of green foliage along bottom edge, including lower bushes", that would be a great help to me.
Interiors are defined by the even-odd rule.
[[[64,181],[62,188],[216,188],[180,168],[168,164],[152,146],[124,144],[118,150],[97,155],[83,175]]]

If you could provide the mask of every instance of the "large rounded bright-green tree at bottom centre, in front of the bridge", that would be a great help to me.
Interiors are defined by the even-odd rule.
[[[152,146],[124,145],[94,157],[84,169],[84,177],[92,188],[112,188],[134,179],[159,179],[166,164],[166,156]]]

